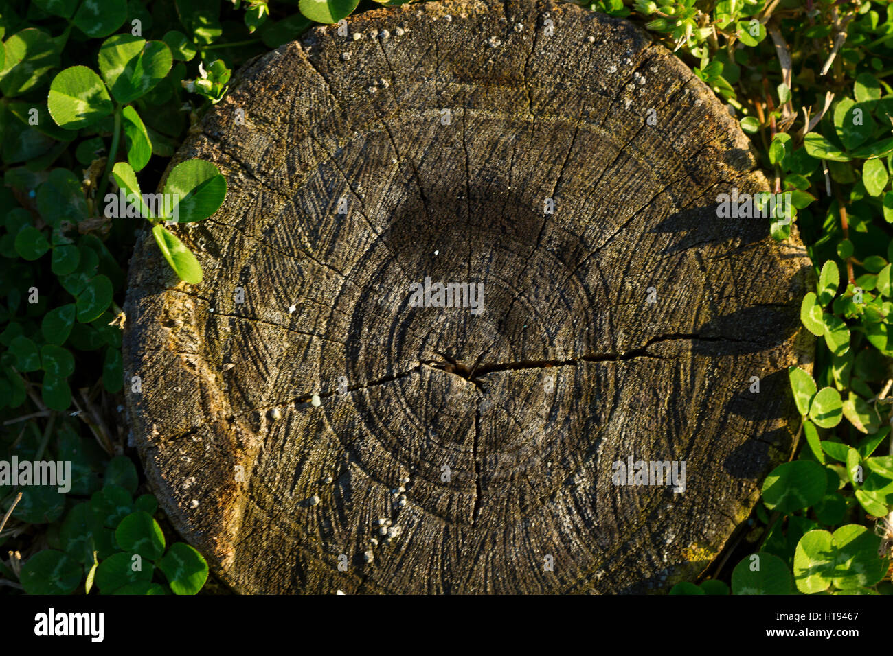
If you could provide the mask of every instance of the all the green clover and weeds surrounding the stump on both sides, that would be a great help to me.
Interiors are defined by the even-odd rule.
[[[581,4],[637,21],[728,104],[772,191],[791,193],[790,216],[773,217],[767,234],[788,239],[793,220],[814,262],[800,318],[818,350],[811,367],[789,371],[802,422],[797,459],[764,481],[753,553],[722,580],[672,593],[889,592],[879,583],[889,543],[870,528],[893,510],[893,89],[885,81],[893,10],[827,0]],[[374,6],[0,0],[0,415],[20,419],[4,428],[0,459],[54,453],[72,462],[73,479],[68,494],[29,487],[13,511],[13,526],[45,532],[46,549],[23,552],[28,592],[192,594],[204,584],[201,556],[166,544],[154,498],[134,499],[132,462],[111,458],[121,446],[107,428],[113,420],[96,420],[96,408],[114,407],[124,385],[119,303],[131,220],[148,220],[160,256],[199,284],[188,226],[217,211],[226,182],[211,162],[169,166],[177,145],[226,95],[239,65],[314,21],[336,23]],[[830,59],[841,24],[846,40]],[[779,59],[785,48],[790,71]],[[177,202],[148,203],[141,188],[161,188]],[[110,215],[107,190],[133,213]],[[0,511],[15,492],[0,486]],[[8,531],[0,544],[22,546]]]

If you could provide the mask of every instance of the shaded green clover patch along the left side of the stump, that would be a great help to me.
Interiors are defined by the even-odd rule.
[[[23,486],[16,502],[20,490],[0,486],[0,516],[16,502],[0,546],[21,552],[21,569],[0,561],[0,577],[26,592],[204,585],[200,555],[164,546],[154,497],[134,498],[129,455],[112,457],[124,437],[114,408],[134,219],[149,222],[180,278],[201,281],[180,224],[217,212],[226,181],[211,162],[171,156],[226,93],[230,71],[310,22],[297,3],[265,0],[0,0],[0,419],[13,420],[0,460],[72,463],[67,493]],[[142,191],[155,189],[171,203]]]

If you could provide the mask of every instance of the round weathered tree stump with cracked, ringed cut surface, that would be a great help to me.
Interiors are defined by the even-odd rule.
[[[249,62],[178,154],[229,184],[179,229],[204,282],[146,236],[131,262],[163,510],[243,593],[696,576],[789,457],[812,358],[796,230],[717,216],[769,188],[749,148],[573,4],[381,9]]]

